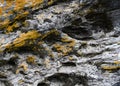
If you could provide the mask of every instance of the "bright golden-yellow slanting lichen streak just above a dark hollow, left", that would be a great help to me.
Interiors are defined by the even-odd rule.
[[[11,50],[11,49],[17,49],[19,47],[26,46],[25,45],[26,41],[35,40],[35,39],[39,38],[40,36],[41,35],[35,30],[28,31],[27,33],[22,33],[12,43],[7,44],[6,49]],[[27,44],[28,44],[27,46],[29,46],[29,44],[31,44],[31,43],[27,43]]]

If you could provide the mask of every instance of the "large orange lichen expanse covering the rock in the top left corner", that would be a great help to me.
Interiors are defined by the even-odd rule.
[[[26,18],[31,11],[38,8],[42,8],[44,4],[52,4],[55,0],[50,0],[48,2],[44,0],[0,0],[0,16],[4,17],[4,20],[0,20],[1,29],[9,29],[8,32],[13,31],[11,25],[13,22],[21,20],[21,18]],[[4,4],[6,3],[6,4]],[[10,20],[13,16],[12,21]]]

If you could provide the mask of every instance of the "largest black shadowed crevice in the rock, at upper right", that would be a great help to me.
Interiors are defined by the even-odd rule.
[[[106,13],[90,13],[85,16],[86,22],[77,19],[70,26],[64,27],[62,31],[76,39],[94,39],[93,34],[110,32],[113,24]]]

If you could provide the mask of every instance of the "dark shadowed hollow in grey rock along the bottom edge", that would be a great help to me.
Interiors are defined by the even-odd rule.
[[[87,85],[88,80],[86,76],[76,75],[74,73],[73,74],[56,73],[48,77],[47,80],[50,81],[53,86],[54,85],[75,86],[76,84],[88,86]]]

